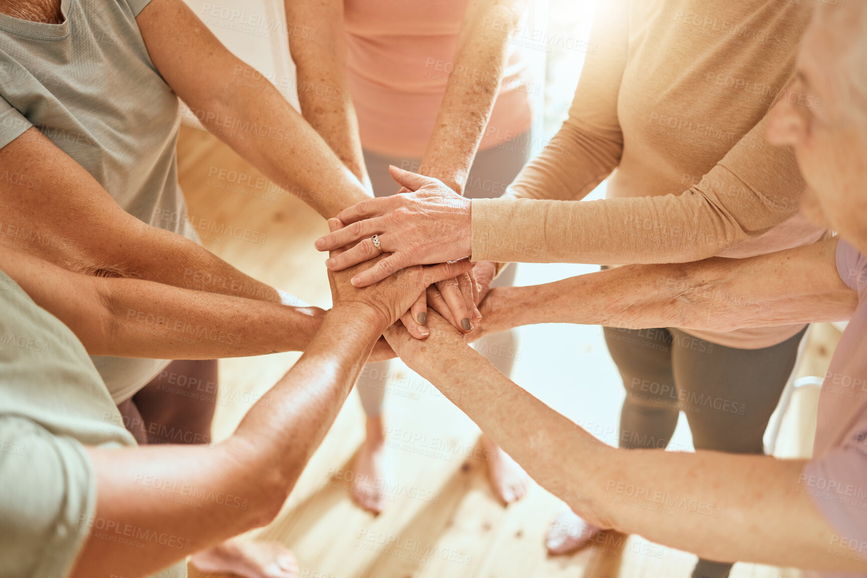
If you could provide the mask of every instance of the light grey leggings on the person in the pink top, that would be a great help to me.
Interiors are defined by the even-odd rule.
[[[464,195],[468,198],[494,198],[505,192],[505,187],[518,176],[518,172],[530,158],[529,133],[522,134],[509,146],[495,146],[476,155],[469,177],[466,179]],[[377,197],[394,194],[401,187],[388,174],[388,165],[407,171],[418,172],[420,159],[402,159],[379,153],[364,151],[364,163],[368,168],[370,181]],[[500,273],[492,287],[511,285],[515,278],[515,264],[512,263]],[[474,344],[494,367],[505,375],[512,373],[515,360],[514,332],[503,331],[487,335]],[[375,417],[382,412],[382,401],[387,389],[388,361],[368,363],[356,382],[362,398],[364,412]]]

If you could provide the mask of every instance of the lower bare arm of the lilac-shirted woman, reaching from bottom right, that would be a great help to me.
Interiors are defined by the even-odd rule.
[[[437,315],[429,322],[423,345],[397,327],[386,338],[533,479],[591,523],[720,562],[867,568],[843,557],[835,530],[799,492],[803,460],[603,445],[499,373]],[[521,419],[505,418],[516,415]]]

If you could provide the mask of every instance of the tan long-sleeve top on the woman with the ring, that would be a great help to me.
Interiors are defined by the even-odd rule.
[[[824,237],[799,213],[791,149],[765,139],[812,14],[800,4],[598,3],[569,119],[504,198],[473,199],[473,260],[674,263]],[[609,176],[609,198],[575,202]],[[690,333],[757,348],[801,327]]]

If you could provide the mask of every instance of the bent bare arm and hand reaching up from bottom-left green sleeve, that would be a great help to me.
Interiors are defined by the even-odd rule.
[[[97,479],[96,519],[133,532],[178,536],[188,549],[168,540],[129,548],[95,533],[73,576],[152,575],[191,552],[270,523],[328,432],[376,338],[427,285],[468,267],[415,267],[363,290],[353,288],[348,275],[331,276],[335,306],[301,359],[267,394],[271,404],[253,406],[231,438],[214,448],[88,448]],[[166,500],[166,494],[182,499]]]

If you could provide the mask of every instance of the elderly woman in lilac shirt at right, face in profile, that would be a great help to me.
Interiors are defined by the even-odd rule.
[[[851,317],[825,376],[812,459],[611,448],[494,371],[436,315],[423,346],[397,328],[387,339],[410,367],[447,385],[443,393],[534,479],[593,523],[714,561],[806,568],[828,578],[867,575],[864,62],[867,4],[820,4],[796,79],[769,127],[772,142],[794,146],[808,186],[805,214],[839,231],[839,240],[493,289],[482,307],[492,330],[572,321],[727,331]],[[803,106],[807,98],[822,106]],[[514,415],[522,419],[505,419]]]

